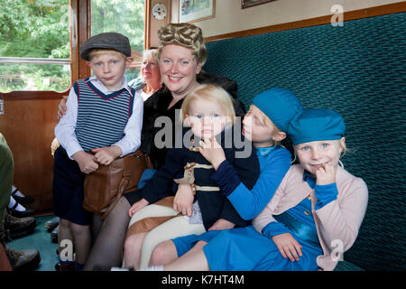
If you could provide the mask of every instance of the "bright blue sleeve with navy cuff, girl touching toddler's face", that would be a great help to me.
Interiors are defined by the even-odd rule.
[[[276,149],[263,162],[260,176],[251,191],[239,181],[234,168],[226,161],[212,175],[243,219],[253,219],[271,200],[291,167],[291,153],[284,148]]]

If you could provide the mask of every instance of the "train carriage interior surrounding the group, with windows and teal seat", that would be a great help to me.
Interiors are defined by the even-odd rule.
[[[51,144],[60,99],[93,75],[80,46],[98,33],[124,34],[130,81],[168,23],[201,28],[208,51],[202,70],[233,79],[247,111],[254,96],[281,87],[304,108],[344,117],[349,151],[342,163],[369,196],[355,244],[335,270],[406,269],[406,1],[2,0],[0,15],[0,133],[14,158],[6,211],[14,222],[35,222],[9,227],[6,246],[38,250],[32,270],[55,271],[58,263]]]

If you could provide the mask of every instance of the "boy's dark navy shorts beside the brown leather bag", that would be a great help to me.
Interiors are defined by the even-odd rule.
[[[60,146],[54,154],[53,212],[78,225],[90,225],[92,213],[83,209],[85,173]]]

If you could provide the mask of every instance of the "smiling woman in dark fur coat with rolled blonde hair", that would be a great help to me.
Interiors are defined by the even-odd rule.
[[[144,101],[143,131],[140,149],[150,156],[153,168],[158,170],[165,161],[168,147],[154,142],[161,127],[155,127],[158,117],[171,119],[171,145],[175,144],[175,124],[179,121],[183,98],[200,84],[220,85],[232,96],[235,115],[243,117],[245,107],[236,99],[235,81],[202,71],[207,60],[206,45],[199,27],[190,23],[170,23],[158,32],[160,39],[157,53],[163,85]],[[62,101],[61,101],[62,102]],[[60,109],[61,112],[61,109]],[[60,113],[59,112],[59,113]],[[162,140],[165,143],[165,140]],[[180,185],[181,190],[190,191],[189,184]],[[143,198],[142,190],[126,193],[103,222],[88,256],[85,270],[95,266],[121,266],[125,235],[130,222],[128,210]]]

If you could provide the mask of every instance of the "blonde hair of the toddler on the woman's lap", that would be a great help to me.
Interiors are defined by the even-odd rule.
[[[225,89],[214,84],[202,84],[196,89],[191,90],[186,98],[183,100],[180,116],[182,121],[189,115],[191,103],[197,99],[204,99],[207,101],[216,102],[221,110],[225,113],[229,119],[230,125],[235,121],[235,110],[233,100]]]

